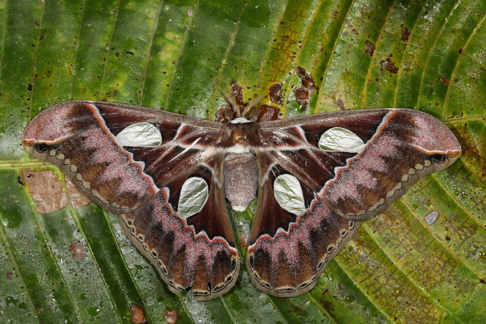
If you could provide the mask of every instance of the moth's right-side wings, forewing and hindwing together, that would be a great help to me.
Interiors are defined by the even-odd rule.
[[[261,124],[259,203],[246,266],[273,295],[311,289],[361,221],[461,148],[440,121],[412,109],[370,109]]]

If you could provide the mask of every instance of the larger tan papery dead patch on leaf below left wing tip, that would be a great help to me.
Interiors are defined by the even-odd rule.
[[[33,172],[23,169],[21,176],[29,186],[32,199],[37,203],[38,213],[53,213],[68,205],[68,197],[62,191],[62,182],[57,180],[59,176],[51,170]]]

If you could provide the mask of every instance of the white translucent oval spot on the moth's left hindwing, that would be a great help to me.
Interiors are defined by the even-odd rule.
[[[208,201],[208,184],[204,179],[192,177],[186,180],[181,188],[179,196],[179,216],[188,218],[203,209]]]

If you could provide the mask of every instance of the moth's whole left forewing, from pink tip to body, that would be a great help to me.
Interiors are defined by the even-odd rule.
[[[156,109],[69,101],[39,113],[22,144],[92,202],[124,213],[212,156],[220,134],[218,123]]]

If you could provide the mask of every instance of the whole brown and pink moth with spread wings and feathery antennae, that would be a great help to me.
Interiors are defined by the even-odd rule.
[[[126,235],[170,290],[224,294],[240,260],[226,208],[258,198],[245,264],[275,296],[312,289],[361,223],[461,148],[413,109],[369,109],[257,121],[231,95],[225,123],[119,103],[61,102],[22,144],[60,168]]]

